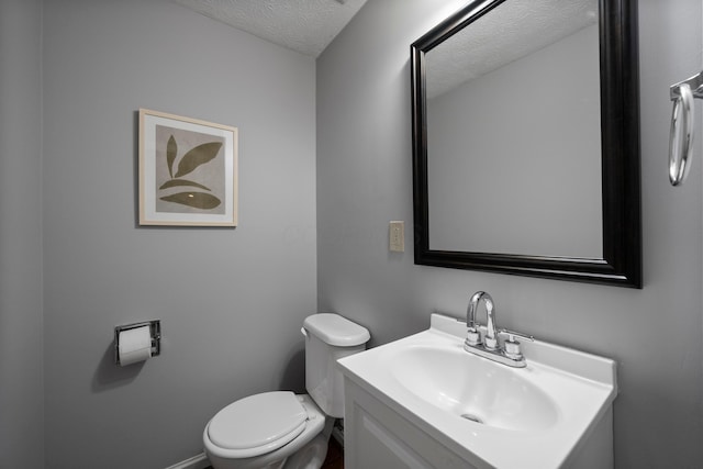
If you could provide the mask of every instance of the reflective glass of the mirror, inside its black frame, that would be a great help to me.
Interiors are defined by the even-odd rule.
[[[426,65],[431,249],[601,257],[598,1],[507,1]]]

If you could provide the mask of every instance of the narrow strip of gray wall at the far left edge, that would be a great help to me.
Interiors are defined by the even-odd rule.
[[[42,3],[0,2],[0,468],[44,461]]]

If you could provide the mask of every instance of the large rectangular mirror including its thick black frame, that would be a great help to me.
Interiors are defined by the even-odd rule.
[[[636,0],[475,0],[414,42],[415,264],[641,288],[637,54]]]

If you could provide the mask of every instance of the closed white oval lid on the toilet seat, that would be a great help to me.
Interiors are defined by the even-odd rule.
[[[221,448],[244,450],[247,457],[272,451],[305,428],[308,413],[289,391],[265,392],[241,399],[212,417],[210,440]]]

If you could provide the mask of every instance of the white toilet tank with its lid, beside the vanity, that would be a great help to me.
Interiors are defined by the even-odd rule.
[[[370,334],[338,314],[320,313],[303,322],[305,389],[332,417],[344,417],[344,381],[337,360],[366,349]]]

